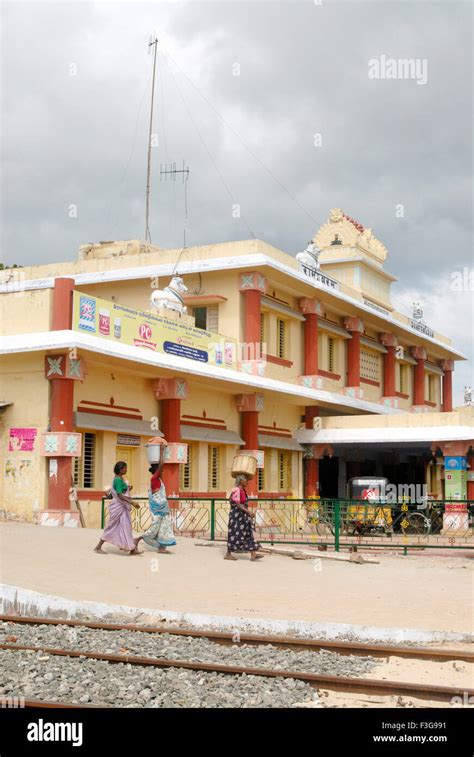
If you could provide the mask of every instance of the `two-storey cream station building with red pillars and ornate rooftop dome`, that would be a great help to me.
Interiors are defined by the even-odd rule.
[[[344,497],[354,476],[474,499],[472,408],[454,408],[463,360],[396,309],[387,250],[340,209],[319,258],[260,240],[161,249],[84,245],[76,261],[0,272],[0,509],[87,525],[117,460],[136,496],[146,441],[168,441],[168,495],[225,497],[254,451],[258,498]],[[187,314],[153,291],[182,278]]]

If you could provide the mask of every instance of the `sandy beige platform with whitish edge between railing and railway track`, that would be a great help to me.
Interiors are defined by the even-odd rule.
[[[380,641],[472,640],[474,559],[380,555],[380,564],[267,555],[181,538],[171,555],[105,545],[99,530],[0,523],[3,612],[166,619],[192,625]]]

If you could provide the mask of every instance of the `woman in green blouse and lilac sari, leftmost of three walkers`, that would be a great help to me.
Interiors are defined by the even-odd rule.
[[[104,544],[104,542],[114,544],[116,547],[120,547],[120,549],[129,552],[131,555],[141,554],[137,550],[132,533],[130,511],[134,504],[130,497],[130,490],[132,487],[124,480],[126,473],[127,463],[124,463],[123,460],[119,460],[118,463],[115,463],[115,477],[110,490],[110,493],[112,494],[112,502],[109,506],[109,520],[102,534],[102,538],[94,549],[94,552],[98,552],[99,554],[106,554],[102,549],[102,544]]]

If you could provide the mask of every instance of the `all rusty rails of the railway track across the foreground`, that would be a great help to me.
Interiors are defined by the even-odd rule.
[[[1,615],[0,620],[7,623],[17,623],[33,626],[80,627],[98,631],[137,631],[146,634],[166,635],[167,637],[187,637],[190,639],[205,639],[218,645],[235,645],[233,634],[218,631],[196,631],[191,629],[172,629],[162,627],[145,627],[128,624],[94,623],[88,621],[58,620],[53,618],[27,618],[22,616]],[[241,634],[240,644],[259,646],[272,645],[286,649],[305,649],[312,652],[329,651],[342,655],[357,655],[363,657],[409,657],[430,662],[445,662],[447,660],[473,662],[474,654],[465,650],[425,649],[418,647],[381,646],[373,644],[358,644],[351,642],[328,642],[326,640],[308,640],[294,637],[255,636]],[[474,689],[466,690],[465,686],[440,686],[431,684],[405,683],[400,681],[380,680],[364,677],[350,677],[343,675],[319,674],[309,671],[254,667],[237,664],[222,664],[210,661],[196,661],[189,659],[169,659],[166,657],[150,657],[128,654],[110,654],[94,650],[49,647],[46,645],[0,643],[0,650],[8,652],[43,653],[51,658],[71,658],[81,660],[98,660],[111,665],[128,664],[141,668],[181,669],[203,674],[218,673],[224,676],[256,676],[266,679],[293,679],[302,681],[316,689],[328,689],[334,692],[346,692],[361,695],[397,695],[414,697],[416,699],[433,702],[450,702],[453,697],[474,697]],[[70,704],[62,702],[45,702],[28,699],[26,707],[91,707],[94,705]]]

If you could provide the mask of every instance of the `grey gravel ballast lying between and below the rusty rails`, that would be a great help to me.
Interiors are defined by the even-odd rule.
[[[11,622],[0,623],[0,642],[336,676],[360,677],[378,664],[370,657],[285,650],[271,644],[224,646],[171,634]],[[314,688],[294,679],[147,668],[8,650],[0,652],[0,696],[115,707],[294,707],[318,702]]]

